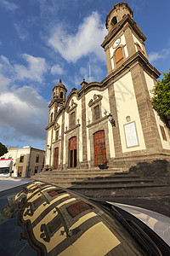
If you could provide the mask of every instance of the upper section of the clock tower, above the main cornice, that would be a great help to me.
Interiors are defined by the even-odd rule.
[[[105,49],[107,69],[112,71],[132,58],[138,51],[147,58],[144,41],[146,37],[133,20],[133,10],[127,3],[116,3],[106,16],[108,35],[101,46]]]

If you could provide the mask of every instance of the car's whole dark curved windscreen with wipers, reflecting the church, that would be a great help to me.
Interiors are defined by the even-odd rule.
[[[170,247],[123,206],[33,181],[0,193],[0,254],[170,255]]]

